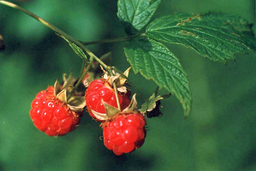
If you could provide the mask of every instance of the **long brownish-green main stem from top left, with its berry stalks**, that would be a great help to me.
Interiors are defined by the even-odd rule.
[[[54,25],[48,23],[48,22],[45,21],[44,19],[38,17],[37,15],[33,14],[32,12],[30,12],[30,11],[28,11],[28,10],[26,10],[26,9],[24,9],[24,8],[22,8],[22,7],[18,6],[18,5],[16,5],[16,4],[13,4],[13,3],[8,2],[8,1],[2,1],[2,0],[0,1],[0,4],[4,4],[4,5],[6,5],[6,6],[9,6],[9,7],[12,7],[12,8],[14,8],[14,9],[17,9],[17,10],[19,10],[19,11],[22,11],[22,12],[26,13],[27,15],[29,15],[30,17],[35,18],[36,20],[38,20],[38,21],[41,22],[42,24],[46,25],[47,27],[49,27],[49,28],[52,29],[53,31],[55,31],[55,32],[59,33],[60,35],[64,36],[66,39],[68,39],[69,41],[75,43],[76,45],[78,45],[79,47],[81,47],[86,53],[88,53],[89,56],[91,57],[90,59],[94,58],[97,62],[99,62],[99,64],[100,64],[103,68],[105,68],[105,69],[108,71],[109,75],[113,75],[111,67],[110,67],[110,66],[107,66],[103,61],[101,61],[100,58],[98,58],[98,57],[97,57],[94,53],[92,53],[87,47],[85,47],[85,45],[83,45],[83,43],[82,43],[81,41],[79,41],[79,40],[73,38],[72,36],[70,36],[70,35],[67,34],[66,32],[63,32],[62,30],[60,30],[58,27],[56,27],[56,26],[54,26]],[[91,62],[91,61],[92,61],[92,60],[90,60],[90,62]],[[87,72],[87,70],[88,70],[89,68],[90,68],[90,67],[87,67],[85,71]],[[84,72],[84,74],[85,74],[86,72]],[[79,80],[82,80],[82,79],[83,79],[83,78],[80,77]],[[80,82],[81,82],[81,81],[80,81]],[[77,82],[77,83],[78,83],[78,82]],[[79,84],[77,84],[77,86],[78,86],[78,85],[79,85]],[[119,103],[119,99],[118,99],[117,88],[116,88],[116,83],[115,83],[115,82],[113,82],[113,87],[114,87],[114,90],[115,90],[116,102],[117,102],[118,109],[121,109],[120,103]],[[75,89],[75,88],[74,88],[74,89]],[[72,90],[72,91],[73,91],[73,90]],[[72,92],[71,95],[72,95],[73,93],[74,93],[74,92]],[[70,96],[71,96],[71,95],[70,95]]]

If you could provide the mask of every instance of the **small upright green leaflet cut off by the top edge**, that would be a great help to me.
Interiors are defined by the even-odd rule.
[[[117,16],[129,35],[136,34],[145,26],[161,0],[118,0]]]

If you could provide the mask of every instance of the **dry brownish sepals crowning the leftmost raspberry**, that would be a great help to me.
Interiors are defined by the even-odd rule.
[[[66,103],[70,110],[81,112],[86,105],[84,96],[78,96],[79,93],[75,92],[69,99],[67,99],[67,96],[71,93],[75,82],[76,79],[72,76],[72,72],[68,78],[66,78],[66,74],[63,74],[63,85],[61,86],[58,79],[56,80],[54,84],[54,95],[61,102]]]

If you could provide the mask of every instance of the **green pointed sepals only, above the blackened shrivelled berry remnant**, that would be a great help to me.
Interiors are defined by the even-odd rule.
[[[156,88],[156,91],[153,93],[153,95],[148,98],[148,101],[141,105],[141,108],[139,109],[140,113],[146,113],[146,111],[152,111],[153,109],[156,108],[156,101],[171,96],[171,93],[167,95],[156,96],[157,93],[158,93],[158,87]]]

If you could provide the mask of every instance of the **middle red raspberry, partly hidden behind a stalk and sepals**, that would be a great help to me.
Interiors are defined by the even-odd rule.
[[[124,96],[118,94],[121,110],[126,108],[130,103],[131,92],[128,91]],[[101,102],[108,103],[111,106],[117,107],[116,96],[114,89],[108,84],[107,81],[97,79],[92,81],[85,91],[85,101],[89,114],[92,118],[96,118],[91,110],[99,113],[106,113],[105,107]],[[97,121],[102,121],[96,118]]]

